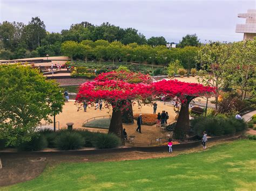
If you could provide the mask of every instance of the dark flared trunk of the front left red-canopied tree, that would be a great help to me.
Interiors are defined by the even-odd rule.
[[[113,110],[112,112],[109,133],[113,133],[114,135],[118,136],[121,139],[122,144],[124,145],[122,114],[120,110]]]

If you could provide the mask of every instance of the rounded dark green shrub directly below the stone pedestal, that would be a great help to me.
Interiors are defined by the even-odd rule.
[[[63,130],[58,134],[55,145],[59,150],[76,150],[84,146],[84,138],[76,131]]]

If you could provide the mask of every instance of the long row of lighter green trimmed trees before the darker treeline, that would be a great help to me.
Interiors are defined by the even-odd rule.
[[[118,61],[144,62],[167,65],[170,61],[179,60],[184,68],[195,66],[194,56],[198,47],[186,46],[184,48],[168,49],[166,46],[152,47],[150,45],[138,45],[131,43],[124,45],[119,41],[109,43],[106,40],[83,40],[81,43],[75,41],[65,41],[61,51],[71,59],[83,59],[87,61]]]

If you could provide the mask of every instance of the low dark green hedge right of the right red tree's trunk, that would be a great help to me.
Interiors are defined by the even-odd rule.
[[[247,125],[243,120],[234,117],[221,118],[217,116],[194,117],[191,126],[198,136],[206,131],[210,136],[230,135],[245,130]]]

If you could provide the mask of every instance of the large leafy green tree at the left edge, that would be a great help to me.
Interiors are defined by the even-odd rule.
[[[64,104],[58,84],[30,66],[0,66],[0,139],[17,146],[29,141],[35,127]]]

